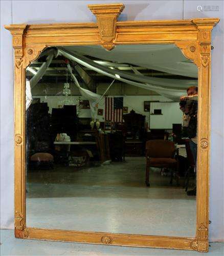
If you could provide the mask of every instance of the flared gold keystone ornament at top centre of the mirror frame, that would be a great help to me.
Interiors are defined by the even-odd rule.
[[[114,48],[116,37],[117,18],[124,9],[123,4],[88,5],[88,8],[97,18],[99,39],[106,50]]]

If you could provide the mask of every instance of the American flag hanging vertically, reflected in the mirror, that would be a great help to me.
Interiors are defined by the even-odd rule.
[[[123,97],[105,97],[105,121],[123,122]]]

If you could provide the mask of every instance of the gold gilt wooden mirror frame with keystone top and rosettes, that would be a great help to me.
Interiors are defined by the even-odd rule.
[[[15,237],[67,242],[208,251],[211,32],[219,18],[117,22],[123,4],[88,5],[97,23],[64,23],[5,26],[14,48],[15,108]],[[50,46],[175,44],[198,67],[198,152],[196,235],[146,236],[30,228],[26,225],[25,183],[25,81],[26,68]]]

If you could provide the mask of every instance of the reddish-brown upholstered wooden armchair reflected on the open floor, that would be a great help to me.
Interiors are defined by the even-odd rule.
[[[173,180],[173,170],[177,173],[178,161],[175,156],[174,142],[168,140],[148,140],[146,142],[146,177],[145,183],[149,186],[150,167],[171,168],[170,184]],[[177,180],[178,183],[178,180]]]

